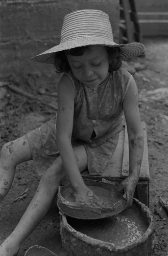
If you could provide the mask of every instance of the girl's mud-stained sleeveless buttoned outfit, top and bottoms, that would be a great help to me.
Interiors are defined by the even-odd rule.
[[[75,88],[71,144],[83,145],[90,175],[101,175],[115,151],[124,124],[123,100],[132,75],[114,71],[97,88],[87,87],[73,73],[66,73]],[[56,117],[27,134],[34,168],[42,175],[59,156]]]

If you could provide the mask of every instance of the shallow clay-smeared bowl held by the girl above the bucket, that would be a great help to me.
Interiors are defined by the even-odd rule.
[[[125,209],[125,198],[123,194],[118,191],[117,183],[106,183],[95,180],[85,180],[86,185],[99,197],[103,204],[101,205],[81,205],[76,204],[73,197],[73,188],[70,184],[60,186],[58,189],[58,208],[67,216],[90,220],[102,219],[112,215],[116,215]]]

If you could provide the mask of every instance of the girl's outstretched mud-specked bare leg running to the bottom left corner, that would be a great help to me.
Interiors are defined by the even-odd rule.
[[[74,152],[78,159],[80,172],[82,172],[87,167],[85,148],[76,147]],[[46,215],[57,194],[60,179],[64,175],[61,158],[58,157],[42,176],[37,191],[18,225],[0,246],[0,256],[13,256],[18,251],[23,241]]]

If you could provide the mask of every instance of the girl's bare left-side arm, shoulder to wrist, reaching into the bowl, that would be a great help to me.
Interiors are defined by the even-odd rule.
[[[73,84],[67,75],[63,75],[58,85],[57,145],[69,181],[74,190],[79,190],[79,188],[85,187],[85,184],[71,145],[74,97]]]

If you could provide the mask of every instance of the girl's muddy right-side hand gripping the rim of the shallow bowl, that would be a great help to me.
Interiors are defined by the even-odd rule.
[[[135,192],[135,187],[137,184],[137,179],[134,176],[128,176],[125,180],[121,182],[118,187],[119,191],[125,191],[126,193],[126,207],[132,205],[133,195]]]

